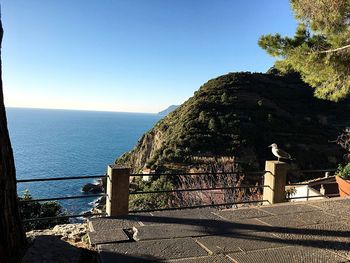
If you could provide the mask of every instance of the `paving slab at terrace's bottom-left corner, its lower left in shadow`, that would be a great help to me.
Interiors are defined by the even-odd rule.
[[[152,262],[208,255],[191,238],[103,244],[98,250],[103,263]]]

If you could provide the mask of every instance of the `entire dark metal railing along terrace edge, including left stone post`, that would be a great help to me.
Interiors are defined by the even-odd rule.
[[[121,172],[122,171],[122,172]],[[295,172],[295,170],[291,170]],[[325,172],[334,172],[336,169],[318,169],[318,170],[299,170],[300,173],[325,173]],[[203,192],[203,191],[225,191],[225,190],[238,190],[238,189],[268,189],[269,191],[282,191],[284,189],[272,189],[272,187],[268,184],[260,184],[260,185],[233,185],[233,186],[213,186],[213,187],[194,187],[194,188],[180,188],[180,189],[160,189],[160,190],[149,190],[149,191],[129,191],[129,183],[131,177],[194,177],[197,180],[201,180],[202,176],[230,176],[244,174],[248,176],[248,178],[255,177],[256,181],[262,182],[264,175],[270,174],[270,171],[256,171],[256,172],[199,172],[199,173],[153,173],[153,174],[135,174],[130,173],[128,169],[120,169],[117,167],[109,166],[107,175],[93,175],[93,176],[70,176],[70,177],[54,177],[54,178],[37,178],[37,179],[20,179],[17,180],[17,183],[34,183],[34,182],[45,182],[45,181],[61,181],[61,180],[81,180],[81,179],[96,179],[96,178],[104,178],[107,176],[109,178],[107,180],[107,189],[109,189],[107,193],[101,194],[86,194],[86,195],[77,195],[77,196],[59,196],[59,197],[48,197],[48,198],[39,198],[39,199],[30,199],[30,200],[20,200],[21,204],[30,203],[30,202],[44,202],[44,201],[55,201],[55,200],[67,200],[67,199],[80,199],[80,198],[91,198],[91,197],[106,197],[106,206],[107,206],[107,214],[109,216],[114,215],[125,215],[128,213],[137,213],[137,212],[151,212],[151,211],[167,211],[167,210],[178,210],[178,209],[191,209],[191,208],[204,208],[204,207],[223,207],[223,206],[233,206],[233,205],[241,205],[241,204],[263,204],[263,203],[273,203],[268,198],[264,196],[261,200],[248,200],[248,197],[245,197],[245,200],[242,198],[237,198],[237,201],[234,201],[234,197],[231,198],[231,201],[225,203],[216,203],[216,204],[195,204],[195,205],[184,205],[178,207],[166,207],[166,208],[153,208],[153,209],[128,209],[129,197],[132,195],[143,195],[143,194],[170,194],[170,193],[184,193],[184,192]],[[250,176],[249,176],[250,175]],[[278,178],[278,176],[276,176]],[[123,180],[121,183],[120,180]],[[312,185],[313,182],[308,183],[295,183],[289,184],[286,186],[303,186],[303,185]],[[334,182],[323,182],[323,185],[326,184],[334,184]],[[285,184],[284,184],[285,185]],[[126,187],[127,186],[127,187]],[[126,189],[127,188],[127,189]],[[118,194],[116,194],[118,193]],[[118,197],[116,197],[118,195]],[[331,195],[328,195],[331,196]],[[289,201],[293,199],[305,199],[305,198],[316,198],[316,197],[325,197],[325,195],[312,195],[312,196],[302,196],[302,197],[287,197],[284,200]],[[225,198],[224,198],[225,200]],[[233,201],[232,201],[233,200]],[[124,202],[124,203],[123,203]],[[127,204],[125,203],[127,202]],[[123,204],[122,204],[123,203]],[[109,207],[109,208],[108,208]],[[113,207],[123,207],[122,211],[113,212]],[[125,207],[127,210],[125,210]],[[100,216],[106,215],[106,213],[93,213],[93,214],[72,214],[72,215],[64,215],[57,217],[41,217],[41,218],[27,218],[24,219],[24,222],[37,221],[37,220],[55,220],[60,218],[75,218],[75,217],[91,217],[91,216]]]

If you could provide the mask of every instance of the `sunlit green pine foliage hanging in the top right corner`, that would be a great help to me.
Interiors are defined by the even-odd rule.
[[[264,35],[259,45],[282,72],[299,72],[315,96],[339,101],[350,93],[350,1],[291,0],[300,24],[294,37]]]

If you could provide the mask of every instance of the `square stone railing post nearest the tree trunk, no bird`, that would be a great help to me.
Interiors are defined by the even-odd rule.
[[[130,169],[108,165],[106,212],[108,216],[123,216],[129,211]]]

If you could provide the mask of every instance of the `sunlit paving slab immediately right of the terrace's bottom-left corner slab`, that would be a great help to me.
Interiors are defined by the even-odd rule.
[[[196,241],[213,254],[227,254],[285,246],[279,238],[265,232],[205,236],[196,238]]]

